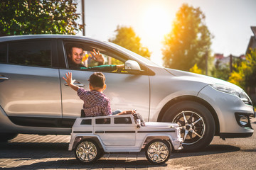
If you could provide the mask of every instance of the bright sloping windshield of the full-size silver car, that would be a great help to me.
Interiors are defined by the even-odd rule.
[[[121,50],[122,52],[125,52],[127,53],[128,55],[131,55],[132,57],[135,57],[137,60],[139,60],[139,62],[142,62],[144,64],[147,64],[147,65],[150,65],[150,66],[153,66],[153,67],[161,67],[159,66],[158,64],[152,62],[151,60],[148,60],[146,59],[145,57],[142,57],[141,55],[138,55],[137,53],[135,52],[132,52],[130,50],[127,50],[126,48],[124,47],[121,47],[119,45],[116,45],[112,42],[107,42],[107,44],[111,45],[112,47],[115,47],[117,48],[118,50]]]

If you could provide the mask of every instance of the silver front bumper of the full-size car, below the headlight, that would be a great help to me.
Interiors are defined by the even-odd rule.
[[[251,127],[242,127],[235,118],[235,113],[255,116],[252,106],[242,102],[232,94],[217,91],[211,86],[206,86],[198,94],[213,107],[218,115],[220,125],[219,134],[223,137],[250,137],[254,130]]]

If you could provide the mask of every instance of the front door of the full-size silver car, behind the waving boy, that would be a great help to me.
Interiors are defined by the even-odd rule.
[[[85,53],[92,49],[97,49],[105,56],[105,64],[122,64],[127,58],[114,53],[112,49],[104,45],[90,44],[89,42],[64,42],[64,49],[68,44],[80,43],[85,46]],[[86,49],[87,48],[87,49]],[[65,61],[68,61],[67,53],[64,52]],[[117,59],[118,58],[118,59]],[[90,58],[89,58],[90,59]],[[95,64],[95,63],[93,63]],[[68,67],[68,64],[66,64]],[[87,67],[90,64],[87,63]],[[137,113],[141,113],[147,120],[149,116],[149,75],[147,74],[130,74],[127,72],[110,72],[102,70],[90,69],[60,69],[60,77],[64,77],[67,72],[73,73],[75,84],[89,90],[89,79],[93,72],[103,72],[106,77],[107,89],[104,94],[110,98],[112,111],[120,109],[122,111],[137,109]],[[60,79],[61,96],[63,102],[63,119],[80,117],[83,101],[73,89],[67,86],[63,79]]]

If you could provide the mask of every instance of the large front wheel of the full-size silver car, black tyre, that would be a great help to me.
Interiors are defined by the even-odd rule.
[[[195,101],[181,101],[164,113],[162,122],[179,125],[184,150],[203,149],[213,140],[215,123],[208,108]]]

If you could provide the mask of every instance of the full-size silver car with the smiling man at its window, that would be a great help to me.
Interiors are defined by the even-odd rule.
[[[93,49],[104,64],[125,64],[124,70],[72,67],[72,45],[84,57]],[[82,60],[84,61],[84,60]],[[184,149],[210,144],[214,135],[250,137],[250,98],[240,87],[200,74],[159,67],[110,42],[73,35],[21,35],[0,38],[0,133],[8,140],[18,133],[70,135],[81,116],[82,101],[62,77],[73,73],[78,86],[89,89],[93,72],[106,77],[112,110],[137,109],[146,121],[174,122],[181,128]]]

